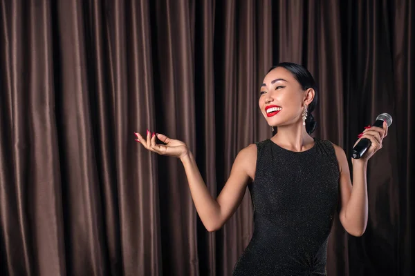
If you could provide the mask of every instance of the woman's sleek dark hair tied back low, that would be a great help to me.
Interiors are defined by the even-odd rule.
[[[315,95],[313,101],[308,105],[308,115],[306,119],[306,131],[308,134],[313,133],[315,130],[315,126],[317,126],[317,122],[315,121],[313,115],[311,115],[311,112],[313,112],[315,106],[317,105],[318,100],[318,93],[317,93],[317,84],[315,84],[314,78],[311,75],[310,72],[303,66],[291,63],[291,62],[281,62],[278,63],[276,66],[273,66],[268,70],[268,73],[278,67],[282,67],[293,74],[295,79],[299,82],[299,85],[302,87],[302,90],[307,90],[308,88],[313,88]],[[267,74],[268,74],[267,73]]]

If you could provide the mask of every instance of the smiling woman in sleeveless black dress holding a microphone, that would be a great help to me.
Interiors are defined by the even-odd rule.
[[[370,139],[371,147],[360,159],[352,159],[352,186],[344,150],[310,136],[315,129],[311,112],[317,103],[317,88],[306,68],[279,63],[264,78],[259,94],[259,108],[277,131],[272,138],[238,153],[216,199],[185,143],[150,135],[148,130],[146,138],[136,133],[136,141],[160,155],[181,159],[197,213],[209,231],[225,224],[248,186],[255,230],[233,275],[325,275],[335,209],[350,235],[365,232],[367,161],[382,148],[387,124],[383,128],[367,126],[358,135],[358,139]],[[156,137],[165,145],[156,144]]]

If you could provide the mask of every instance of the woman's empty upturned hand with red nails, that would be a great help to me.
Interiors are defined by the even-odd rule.
[[[140,142],[142,146],[156,152],[159,155],[167,155],[177,158],[183,158],[188,154],[188,148],[185,143],[176,139],[170,139],[169,137],[160,134],[153,133],[147,130],[147,137],[144,139],[138,132],[134,132],[136,135],[136,141]],[[156,137],[165,144],[156,144]]]

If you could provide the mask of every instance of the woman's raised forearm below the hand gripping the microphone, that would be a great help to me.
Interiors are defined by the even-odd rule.
[[[352,160],[353,188],[347,202],[344,218],[349,226],[348,232],[356,236],[362,235],[367,226],[367,161]]]

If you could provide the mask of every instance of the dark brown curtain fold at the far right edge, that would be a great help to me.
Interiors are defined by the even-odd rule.
[[[396,135],[395,145],[405,150],[395,150],[394,159],[398,160],[396,166],[391,166],[395,172],[396,180],[394,183],[399,183],[399,186],[391,187],[394,190],[394,210],[393,212],[396,221],[396,229],[398,235],[394,242],[398,248],[396,252],[396,267],[394,273],[403,275],[414,268],[411,263],[406,262],[407,259],[414,259],[414,238],[413,233],[413,219],[412,213],[412,198],[414,189],[410,183],[414,179],[414,158],[411,155],[414,146],[412,145],[414,137],[414,121],[415,104],[414,97],[414,79],[415,79],[415,5],[412,1],[400,1],[389,5],[392,10],[389,30],[391,34],[391,56],[393,62],[393,77],[394,87],[396,91],[392,93],[396,106],[395,121],[396,128],[394,135]],[[392,144],[393,145],[393,144]],[[393,160],[393,159],[392,159]]]

